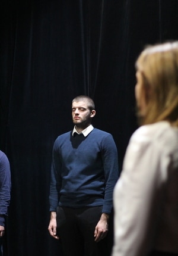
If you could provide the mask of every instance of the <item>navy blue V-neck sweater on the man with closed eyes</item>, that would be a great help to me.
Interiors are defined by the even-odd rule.
[[[117,149],[112,135],[94,128],[86,137],[59,136],[53,146],[50,211],[56,207],[113,207],[113,188],[118,179]]]

